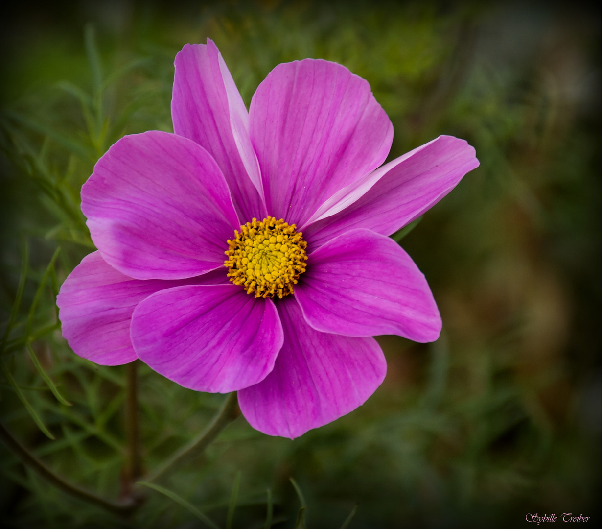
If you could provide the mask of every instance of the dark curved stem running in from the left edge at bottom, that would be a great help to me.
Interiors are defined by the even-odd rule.
[[[17,439],[13,437],[13,434],[11,434],[1,422],[0,437],[5,445],[7,445],[8,448],[14,452],[14,454],[21,460],[22,463],[29,466],[29,468],[33,469],[40,476],[45,478],[45,480],[49,481],[49,483],[53,484],[58,489],[63,490],[67,494],[121,515],[127,515],[131,513],[132,510],[136,509],[138,506],[137,502],[133,501],[131,498],[127,499],[126,501],[112,501],[110,499],[97,496],[95,493],[90,492],[89,490],[82,489],[82,487],[64,480],[55,474],[51,469],[49,469],[48,466],[46,466],[42,461],[37,459],[35,455],[29,452],[25,446],[23,446]]]

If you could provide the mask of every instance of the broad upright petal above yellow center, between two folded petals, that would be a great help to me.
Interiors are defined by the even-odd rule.
[[[393,139],[367,81],[324,60],[276,66],[253,95],[249,118],[268,211],[297,227],[378,167]]]

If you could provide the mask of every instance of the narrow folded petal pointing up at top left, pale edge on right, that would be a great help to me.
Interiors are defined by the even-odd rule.
[[[187,44],[176,55],[173,131],[217,161],[243,222],[265,218],[259,165],[249,139],[249,113],[213,40]]]

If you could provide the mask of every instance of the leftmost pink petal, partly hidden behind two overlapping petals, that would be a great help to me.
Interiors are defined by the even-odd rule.
[[[225,268],[202,281],[227,280]],[[100,252],[86,255],[57,296],[63,336],[73,351],[97,364],[116,366],[135,360],[129,324],[136,305],[147,296],[194,280],[139,281],[111,268]]]

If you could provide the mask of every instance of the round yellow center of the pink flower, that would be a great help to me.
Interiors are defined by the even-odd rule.
[[[228,240],[228,277],[232,283],[243,285],[247,294],[256,298],[283,298],[293,293],[293,285],[305,272],[307,243],[296,226],[283,219],[268,216],[258,222],[253,219]]]

